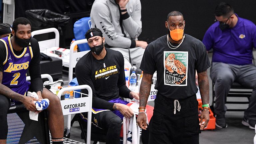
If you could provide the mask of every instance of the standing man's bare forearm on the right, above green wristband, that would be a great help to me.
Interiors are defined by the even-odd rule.
[[[203,104],[209,103],[209,80],[207,70],[198,73],[198,86]]]

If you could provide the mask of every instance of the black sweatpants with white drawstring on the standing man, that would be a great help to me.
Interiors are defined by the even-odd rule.
[[[198,101],[196,95],[178,100],[180,111],[174,114],[174,99],[157,95],[149,123],[149,144],[199,144]]]

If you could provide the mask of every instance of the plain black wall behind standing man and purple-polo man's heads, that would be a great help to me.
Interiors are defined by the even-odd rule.
[[[171,11],[180,11],[186,23],[185,33],[200,40],[214,23],[214,10],[224,0],[141,0],[142,33],[141,40],[151,42],[167,34],[165,21]],[[256,24],[255,0],[225,0],[234,7],[239,17],[251,20]]]

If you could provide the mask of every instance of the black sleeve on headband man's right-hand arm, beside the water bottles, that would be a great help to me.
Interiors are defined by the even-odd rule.
[[[119,88],[119,95],[121,97],[124,97],[124,98],[130,98],[129,94],[130,94],[131,90],[129,90],[127,88],[127,86],[125,85],[124,57],[121,53],[120,53],[119,62],[120,62],[119,63],[119,65],[120,65],[120,74],[118,76],[118,82],[117,82],[117,86]]]

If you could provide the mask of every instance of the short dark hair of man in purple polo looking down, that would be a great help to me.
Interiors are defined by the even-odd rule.
[[[231,5],[221,2],[219,3],[214,11],[215,16],[223,16],[225,18],[229,17],[230,15],[234,14],[234,9]]]

